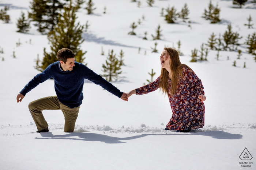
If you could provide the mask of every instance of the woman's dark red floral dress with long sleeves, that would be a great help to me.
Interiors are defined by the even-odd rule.
[[[172,118],[166,125],[169,130],[191,130],[204,126],[204,103],[198,98],[204,95],[204,87],[196,74],[182,67],[183,78],[177,81],[173,96],[170,95],[172,81],[168,81],[168,98],[172,108]],[[159,88],[160,76],[152,83],[136,88],[136,95],[147,94]]]

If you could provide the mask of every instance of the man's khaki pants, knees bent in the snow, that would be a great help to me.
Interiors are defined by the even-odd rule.
[[[79,108],[80,106],[75,108],[66,106],[58,100],[57,96],[49,96],[29,103],[29,111],[39,131],[48,127],[42,110],[61,110],[65,118],[64,132],[74,132]]]

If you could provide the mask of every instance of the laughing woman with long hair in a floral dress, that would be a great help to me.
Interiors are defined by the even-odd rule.
[[[189,132],[204,126],[204,87],[201,80],[186,64],[181,64],[179,54],[172,48],[164,48],[161,56],[161,75],[152,83],[128,92],[142,95],[158,88],[168,95],[172,118],[165,130]]]

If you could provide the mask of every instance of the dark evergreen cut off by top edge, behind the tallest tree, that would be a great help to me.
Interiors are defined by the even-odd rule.
[[[66,0],[67,1],[67,0]],[[33,0],[30,2],[29,17],[38,27],[38,31],[46,33],[46,30],[52,31],[59,21],[59,14],[65,3],[60,0]]]

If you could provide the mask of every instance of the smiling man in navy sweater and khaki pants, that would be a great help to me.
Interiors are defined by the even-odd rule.
[[[34,78],[17,95],[17,103],[21,102],[27,92],[49,78],[54,79],[56,96],[41,98],[29,103],[29,111],[37,126],[37,133],[48,132],[48,124],[42,110],[60,110],[64,114],[64,132],[74,132],[76,118],[83,100],[84,79],[100,85],[118,98],[127,101],[126,94],[103,79],[82,63],[75,62],[75,54],[68,48],[57,53],[58,62],[50,64],[42,73]]]

